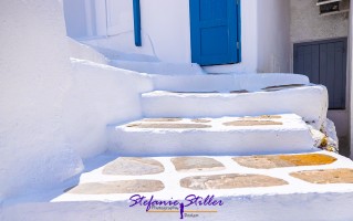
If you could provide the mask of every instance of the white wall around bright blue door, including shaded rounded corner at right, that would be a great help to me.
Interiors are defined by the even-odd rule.
[[[273,3],[276,3],[273,1]],[[209,73],[256,73],[261,72],[287,72],[285,46],[287,32],[279,32],[278,27],[267,30],[263,25],[278,22],[285,28],[287,3],[276,8],[260,3],[259,0],[241,0],[241,63],[230,65],[205,66]],[[261,6],[260,6],[261,4]],[[128,0],[95,1],[96,30],[106,28],[106,38],[80,38],[85,44],[96,48],[110,57],[120,59],[120,54],[148,55],[156,61],[168,63],[191,63],[190,43],[190,15],[188,0],[141,0],[141,25],[142,46],[134,44],[134,21],[133,4]],[[258,17],[258,11],[267,7],[267,15],[270,19],[263,20]],[[68,12],[70,13],[70,12]],[[262,13],[263,14],[263,13]],[[263,36],[262,36],[263,35]],[[276,36],[272,39],[271,36]],[[266,42],[268,46],[260,49],[259,45]],[[278,45],[280,43],[280,45]],[[271,56],[264,53],[271,50]],[[124,60],[124,57],[123,57]],[[260,66],[260,69],[259,69]]]

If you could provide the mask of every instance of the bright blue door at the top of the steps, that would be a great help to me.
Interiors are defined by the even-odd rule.
[[[189,1],[193,62],[240,62],[240,0]]]

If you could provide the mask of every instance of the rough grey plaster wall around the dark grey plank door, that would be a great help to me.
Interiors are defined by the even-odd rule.
[[[346,7],[346,0],[343,7]],[[335,15],[320,17],[316,0],[290,0],[291,24],[291,71],[293,71],[293,44],[299,42],[310,42],[324,39],[334,39],[349,35],[349,15],[341,13]],[[347,72],[347,80],[351,73]],[[350,81],[347,81],[347,95],[350,92]],[[346,98],[346,109],[329,110],[331,118],[338,130],[342,154],[349,152],[349,130],[350,130],[350,99]],[[344,150],[343,150],[344,149]]]

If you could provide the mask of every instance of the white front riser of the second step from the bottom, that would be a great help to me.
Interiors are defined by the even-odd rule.
[[[313,148],[308,129],[233,131],[126,131],[112,128],[110,150],[120,156],[249,155]]]

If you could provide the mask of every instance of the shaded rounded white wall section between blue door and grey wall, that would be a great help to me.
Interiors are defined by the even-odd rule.
[[[290,72],[290,1],[258,1],[258,72]]]

